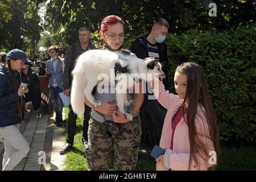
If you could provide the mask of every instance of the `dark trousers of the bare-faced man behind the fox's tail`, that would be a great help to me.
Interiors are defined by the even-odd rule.
[[[84,111],[84,123],[82,125],[82,142],[85,140],[88,141],[88,126],[89,126],[89,119],[90,119],[90,110],[91,108],[85,104],[85,111]],[[74,137],[76,134],[76,118],[77,115],[74,113],[71,105],[69,105],[69,114],[68,114],[68,121],[67,121],[67,130],[68,130],[68,137],[67,143],[73,145],[74,144]]]

